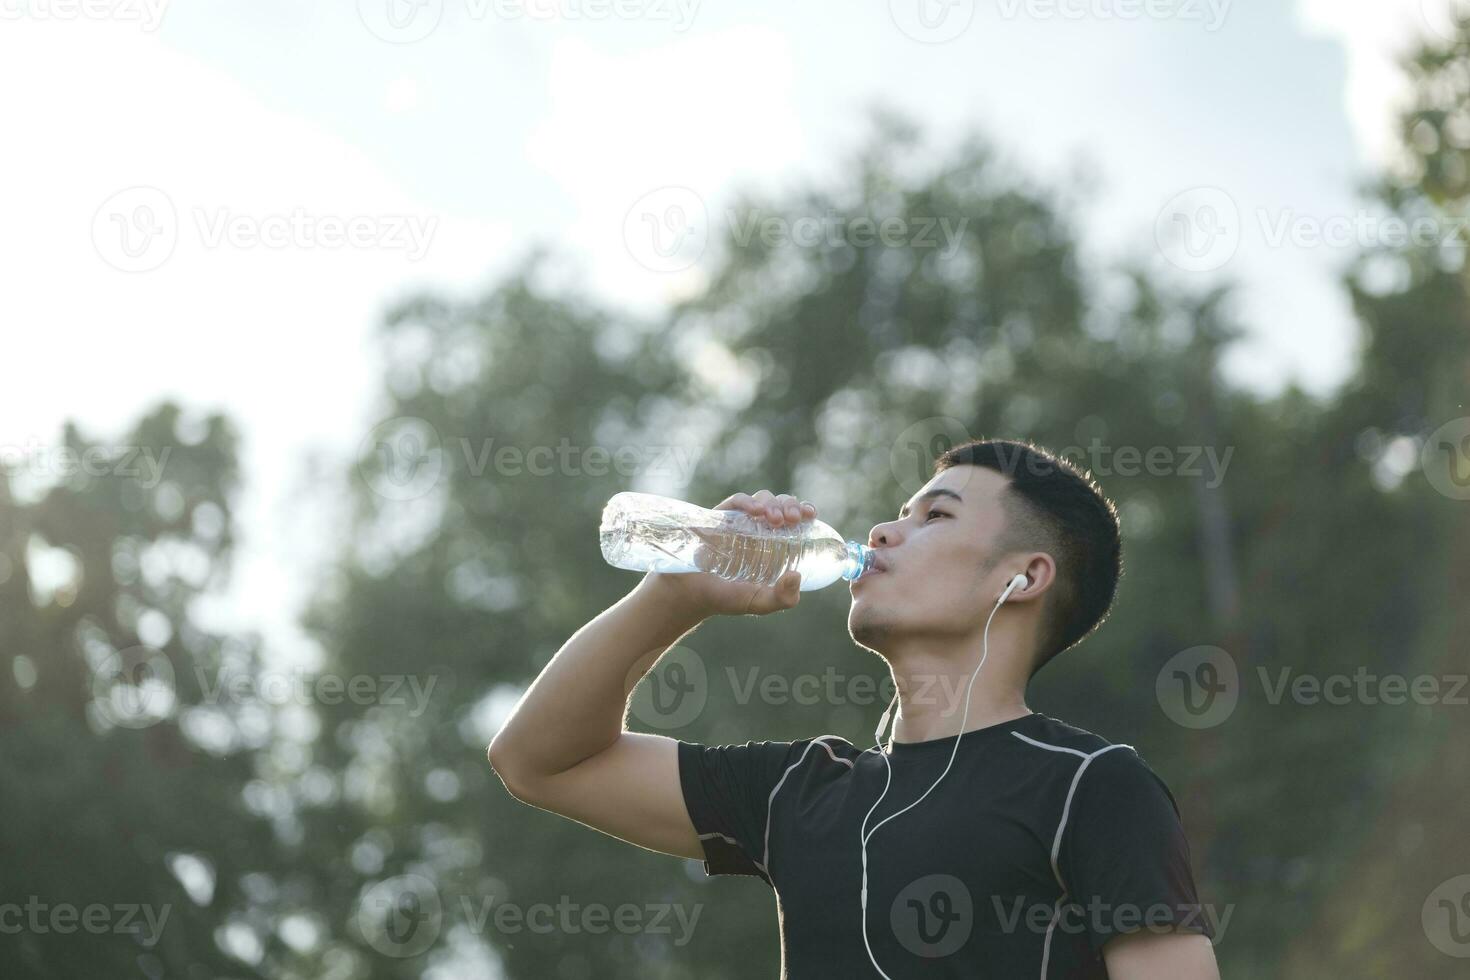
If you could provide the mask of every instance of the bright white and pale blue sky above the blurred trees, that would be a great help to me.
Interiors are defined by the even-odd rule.
[[[335,476],[379,420],[388,301],[482,289],[545,242],[654,311],[700,272],[639,264],[645,195],[717,217],[736,188],[828,178],[875,103],[939,148],[994,137],[1073,200],[1097,267],[1239,282],[1232,375],[1324,391],[1352,250],[1270,231],[1358,212],[1394,153],[1394,57],[1448,3],[0,0],[0,448],[68,417],[115,439],[163,397],[229,413],[244,550],[212,624],[309,654],[291,621],[337,542],[301,463]],[[1157,247],[1180,207],[1223,250]]]

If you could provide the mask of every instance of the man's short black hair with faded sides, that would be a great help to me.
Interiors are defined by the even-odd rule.
[[[1117,508],[1091,473],[1032,442],[975,439],[942,454],[933,472],[954,466],[983,466],[1008,479],[1001,502],[1010,520],[995,541],[997,558],[1045,551],[1057,563],[1044,599],[1035,674],[1095,630],[1113,607],[1123,574]]]

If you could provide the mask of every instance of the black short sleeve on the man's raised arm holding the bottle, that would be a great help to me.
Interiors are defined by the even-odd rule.
[[[764,865],[770,798],[801,746],[679,742],[679,785],[704,846],[706,874],[751,874],[770,883]]]

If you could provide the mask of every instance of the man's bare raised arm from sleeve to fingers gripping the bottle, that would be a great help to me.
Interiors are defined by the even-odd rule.
[[[810,520],[811,504],[769,491],[735,494],[772,526]],[[775,586],[707,573],[650,573],[572,635],[490,743],[490,764],[510,793],[629,843],[703,858],[679,785],[678,741],[623,727],[628,695],[679,638],[710,616],[766,614],[800,599],[800,576]]]

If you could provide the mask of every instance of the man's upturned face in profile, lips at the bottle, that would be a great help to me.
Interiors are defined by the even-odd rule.
[[[925,483],[897,520],[873,527],[867,544],[883,570],[851,583],[847,629],[856,642],[882,652],[895,636],[963,636],[983,624],[998,595],[985,580],[1010,577],[988,576],[1003,557],[994,542],[1005,527],[1005,485],[995,470],[954,466]]]

